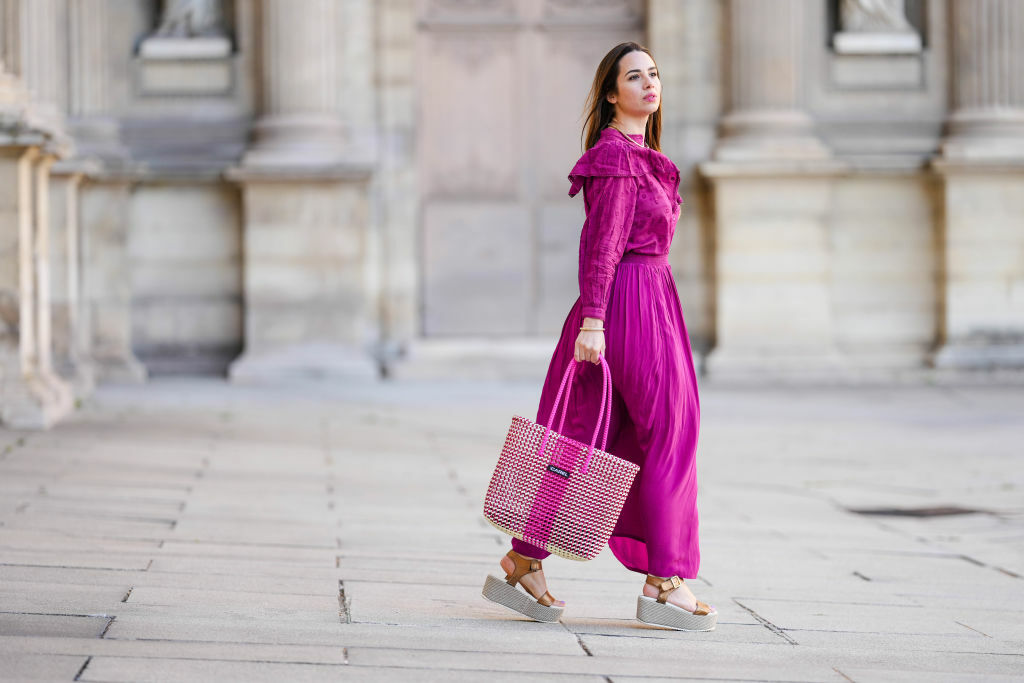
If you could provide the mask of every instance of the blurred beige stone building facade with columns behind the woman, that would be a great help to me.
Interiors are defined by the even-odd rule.
[[[707,376],[1024,366],[1024,0],[0,0],[0,421],[157,374],[539,376],[624,40]]]

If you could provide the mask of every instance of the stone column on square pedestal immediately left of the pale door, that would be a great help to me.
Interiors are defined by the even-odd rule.
[[[373,377],[372,157],[361,144],[373,129],[356,115],[375,92],[352,74],[373,73],[374,5],[260,8],[262,117],[229,174],[243,186],[246,318],[230,376]]]

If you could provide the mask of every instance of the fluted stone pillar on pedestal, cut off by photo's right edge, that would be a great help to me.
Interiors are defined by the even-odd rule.
[[[946,368],[1024,367],[1024,4],[952,0],[944,182]]]

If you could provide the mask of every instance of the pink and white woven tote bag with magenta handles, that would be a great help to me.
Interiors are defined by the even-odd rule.
[[[506,533],[570,560],[591,560],[608,543],[640,469],[605,452],[611,420],[611,372],[601,356],[603,386],[597,426],[590,443],[564,436],[565,413],[578,367],[570,360],[548,426],[512,418],[483,501],[483,517]],[[558,429],[552,429],[565,401]],[[604,433],[601,446],[597,436]]]

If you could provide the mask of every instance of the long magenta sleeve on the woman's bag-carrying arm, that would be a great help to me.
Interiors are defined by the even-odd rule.
[[[587,219],[580,236],[580,301],[585,317],[603,321],[633,225],[638,184],[630,175],[591,176],[583,189]]]

